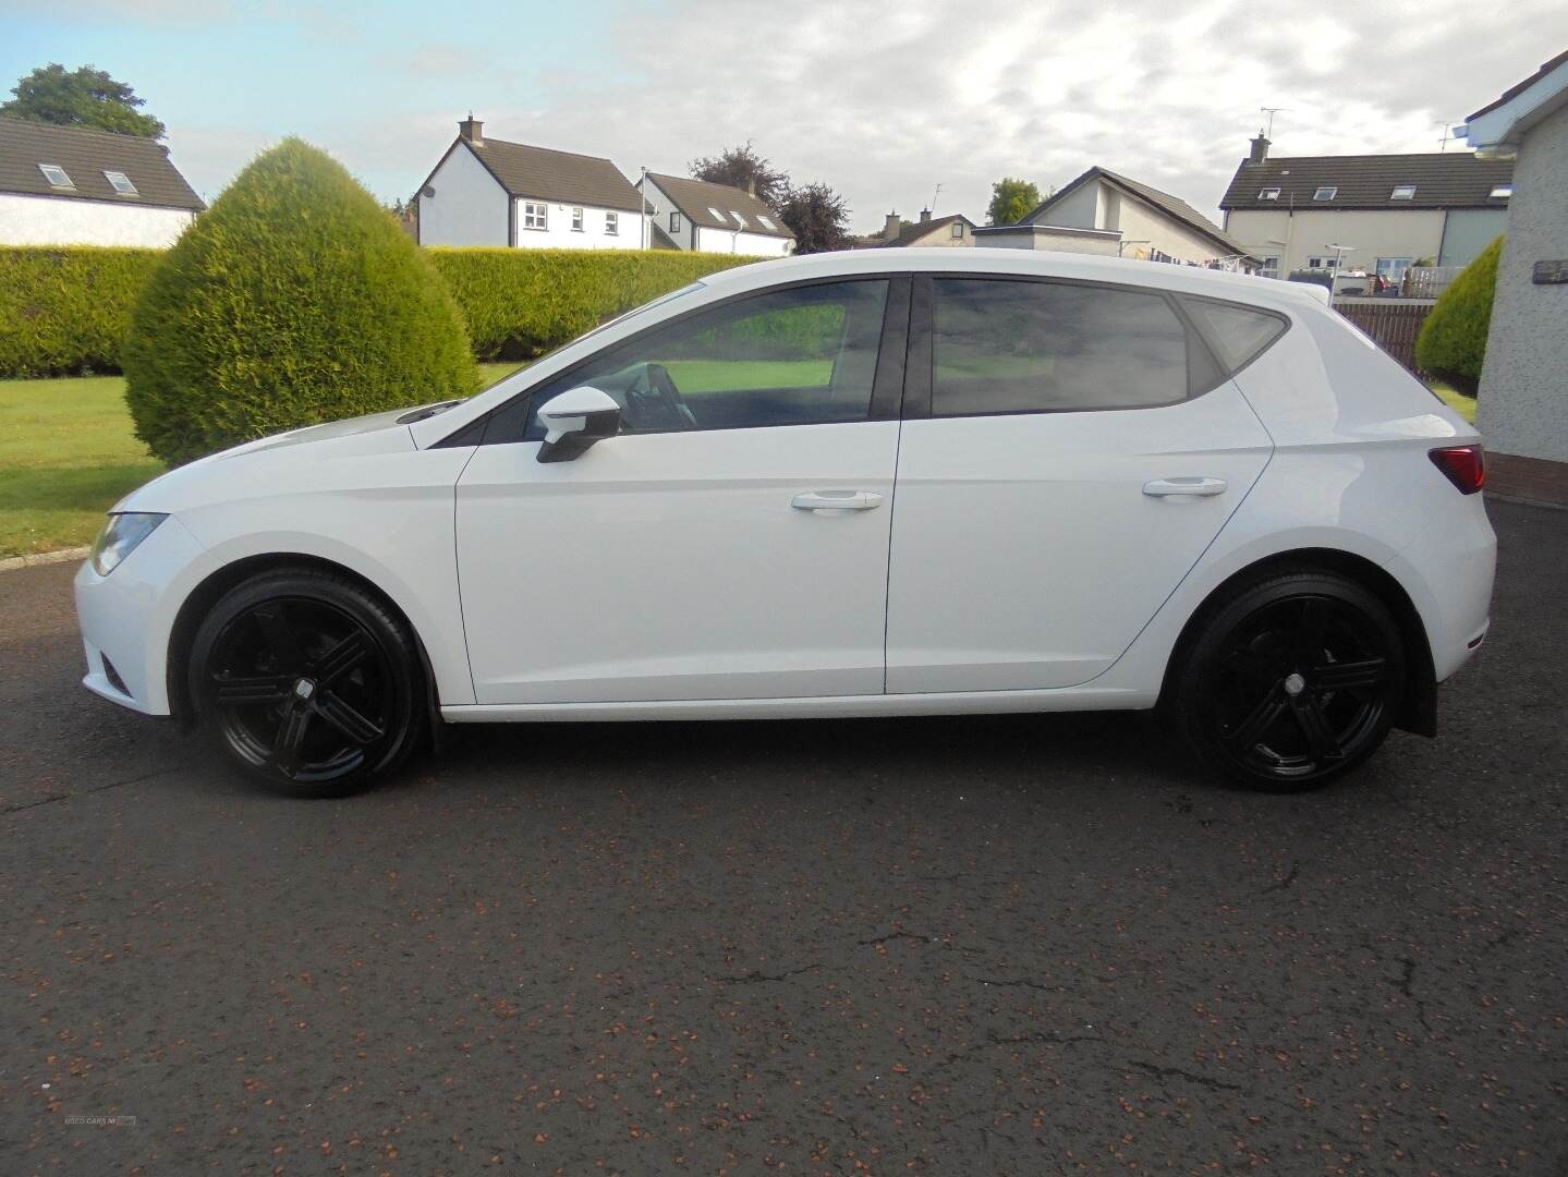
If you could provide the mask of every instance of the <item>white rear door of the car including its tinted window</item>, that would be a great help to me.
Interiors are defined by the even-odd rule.
[[[1283,331],[1243,313],[1261,318],[1258,340]],[[1189,312],[1159,292],[917,279],[908,381],[889,693],[1096,677],[1272,451]]]

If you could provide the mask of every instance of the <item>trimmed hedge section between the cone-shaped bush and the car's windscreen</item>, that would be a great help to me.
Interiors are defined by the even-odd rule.
[[[704,274],[756,262],[670,249],[426,251],[481,360],[532,359]]]

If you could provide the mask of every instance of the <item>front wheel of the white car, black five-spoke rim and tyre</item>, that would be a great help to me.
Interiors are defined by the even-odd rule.
[[[359,791],[423,730],[408,625],[351,578],[314,569],[229,589],[196,630],[188,685],[218,751],[287,796]]]

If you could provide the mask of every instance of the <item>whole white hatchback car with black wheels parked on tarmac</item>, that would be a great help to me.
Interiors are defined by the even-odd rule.
[[[1000,249],[715,274],[114,506],[86,685],[295,795],[433,724],[1168,707],[1297,788],[1486,633],[1475,431],[1317,287]]]

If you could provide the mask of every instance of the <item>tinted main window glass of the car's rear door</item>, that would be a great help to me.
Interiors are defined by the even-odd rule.
[[[1185,400],[1187,331],[1160,295],[941,277],[931,414],[1132,409]]]

